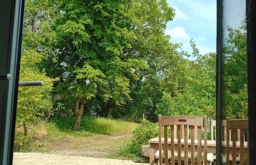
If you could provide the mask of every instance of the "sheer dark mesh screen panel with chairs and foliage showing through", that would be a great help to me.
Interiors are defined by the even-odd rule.
[[[229,128],[232,127],[233,121],[241,128],[242,126],[248,128],[246,0],[222,0],[221,6],[218,7],[222,10],[222,19],[219,24],[222,29],[219,31],[221,44],[218,44],[221,47],[218,56],[222,65],[219,72],[222,81],[217,91],[220,91],[219,94],[222,95],[218,103],[222,106],[218,109],[221,113],[217,120],[227,121],[227,124],[230,123]],[[217,127],[221,129],[217,131],[221,134],[217,140],[222,140],[221,154],[217,154],[219,157],[217,164],[234,164],[234,161],[236,161],[235,164],[248,164],[248,153],[245,149],[248,141],[247,128],[233,129],[227,133],[227,127],[228,125],[225,126],[225,124]],[[228,141],[230,141],[229,157],[227,157],[227,145],[225,144]],[[235,147],[233,147],[234,141],[237,142]],[[242,147],[241,153],[239,147],[242,143],[245,146]],[[232,152],[236,153],[235,156]]]

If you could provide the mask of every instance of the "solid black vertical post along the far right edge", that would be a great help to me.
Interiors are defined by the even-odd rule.
[[[247,15],[247,65],[248,65],[248,122],[249,162],[256,162],[256,1],[246,1]]]

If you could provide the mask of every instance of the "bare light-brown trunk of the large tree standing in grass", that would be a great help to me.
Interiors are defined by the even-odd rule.
[[[80,99],[76,98],[75,100],[75,122],[74,122],[74,130],[79,130],[80,129],[80,122],[81,122],[81,117],[83,114],[84,110],[84,104],[85,100],[83,102],[80,102]]]

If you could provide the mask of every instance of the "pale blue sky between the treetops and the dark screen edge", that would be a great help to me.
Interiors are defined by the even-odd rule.
[[[216,0],[167,0],[176,11],[173,21],[167,23],[170,42],[183,43],[182,49],[192,53],[190,39],[200,54],[216,52]]]

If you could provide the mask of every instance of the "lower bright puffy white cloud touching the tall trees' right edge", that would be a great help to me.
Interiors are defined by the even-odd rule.
[[[172,39],[189,39],[188,33],[186,33],[183,27],[165,30],[165,34],[170,35]]]

